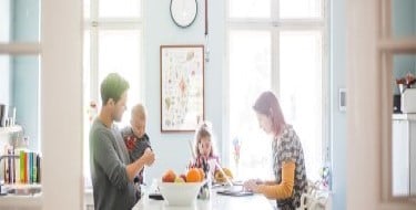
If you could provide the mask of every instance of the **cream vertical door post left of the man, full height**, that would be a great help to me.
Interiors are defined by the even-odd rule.
[[[42,209],[77,210],[83,204],[82,1],[41,7]]]

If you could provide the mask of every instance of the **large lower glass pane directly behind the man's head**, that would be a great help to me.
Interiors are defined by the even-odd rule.
[[[132,105],[140,102],[140,49],[141,32],[139,30],[102,30],[99,32],[99,85],[112,72],[118,72],[130,83],[128,111],[122,118],[123,125],[129,124]]]

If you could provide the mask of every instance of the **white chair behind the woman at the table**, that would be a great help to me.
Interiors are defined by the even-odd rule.
[[[301,197],[301,207],[296,210],[329,210],[329,192],[319,189],[319,181],[308,181],[307,191]]]

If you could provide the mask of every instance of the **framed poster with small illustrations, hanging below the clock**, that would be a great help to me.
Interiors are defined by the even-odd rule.
[[[204,46],[161,45],[161,132],[194,132],[204,119]]]

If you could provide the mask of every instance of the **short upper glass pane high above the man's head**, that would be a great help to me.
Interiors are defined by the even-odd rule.
[[[100,18],[139,18],[141,0],[100,0]]]

